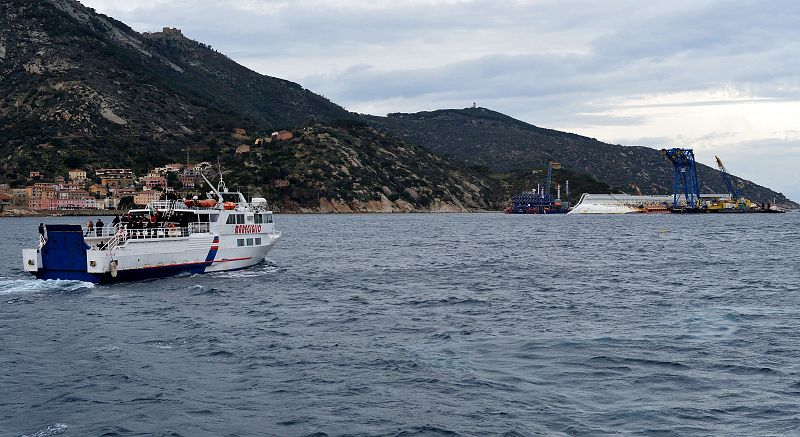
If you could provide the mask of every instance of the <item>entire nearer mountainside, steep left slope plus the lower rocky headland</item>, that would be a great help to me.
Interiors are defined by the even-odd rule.
[[[496,207],[493,181],[177,29],[140,34],[73,0],[0,0],[0,17],[0,182],[72,167],[142,175],[190,155],[220,159],[230,186],[283,211]],[[254,144],[281,128],[295,137]]]

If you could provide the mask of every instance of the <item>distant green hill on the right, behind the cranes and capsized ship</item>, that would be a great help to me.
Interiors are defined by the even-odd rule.
[[[672,166],[660,151],[607,144],[594,138],[540,128],[485,108],[449,109],[370,117],[370,123],[468,165],[493,172],[543,168],[549,161],[585,172],[631,194],[672,192]],[[698,164],[702,192],[727,192],[718,170]],[[783,194],[734,178],[758,201],[796,206]]]

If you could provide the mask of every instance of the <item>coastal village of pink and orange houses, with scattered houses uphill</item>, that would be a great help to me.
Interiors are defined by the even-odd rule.
[[[244,129],[234,129],[232,136],[244,138]],[[273,132],[256,138],[255,144],[285,141],[293,138],[290,131]],[[251,146],[241,144],[237,155],[249,153]],[[182,199],[207,190],[203,175],[216,171],[204,161],[196,164],[170,163],[137,175],[130,168],[70,169],[63,175],[46,175],[32,171],[25,187],[0,184],[0,213],[27,215],[68,213],[87,210],[122,210],[143,207],[163,198]],[[288,180],[278,179],[273,185],[282,188]]]

